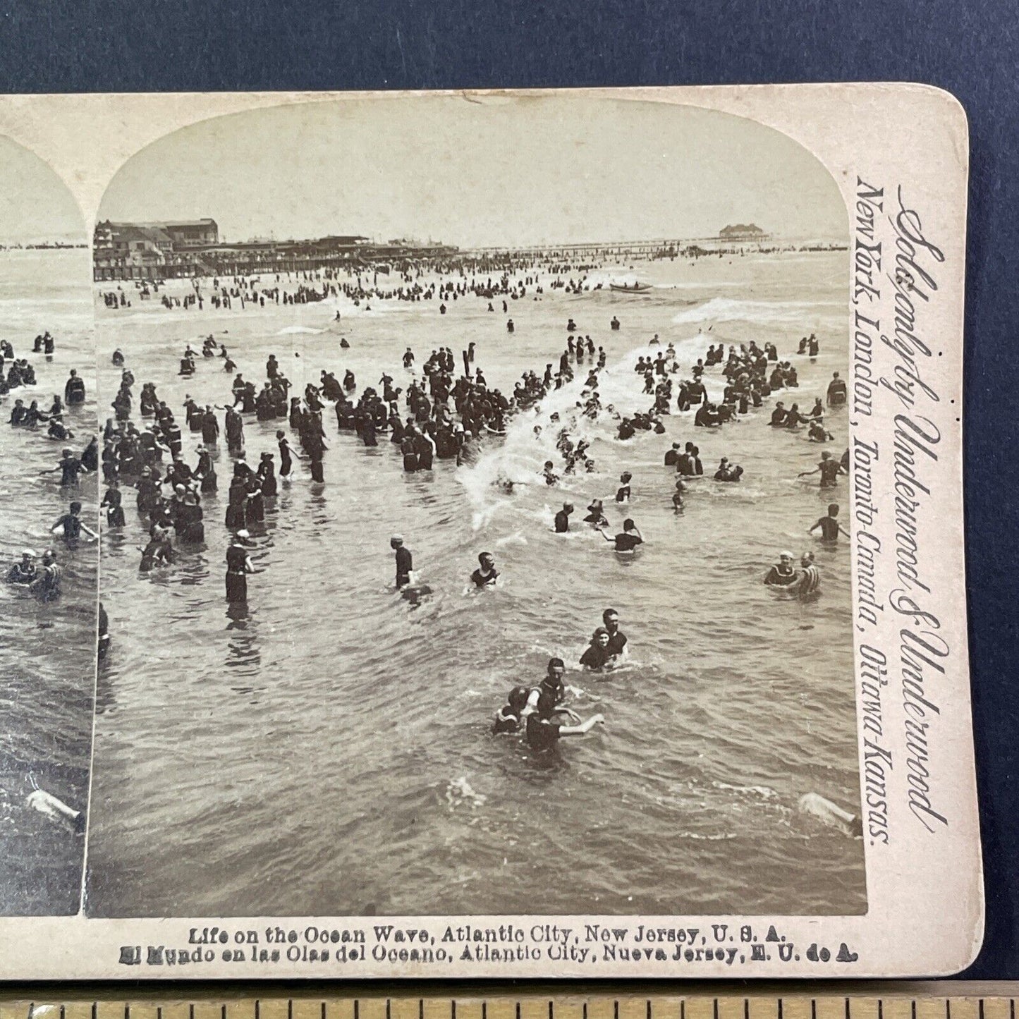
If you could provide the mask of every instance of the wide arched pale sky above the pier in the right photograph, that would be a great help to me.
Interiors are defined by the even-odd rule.
[[[580,95],[328,100],[217,117],[132,157],[100,209],[200,216],[231,240],[513,246],[710,236],[751,222],[783,236],[847,233],[830,175],[779,131]]]

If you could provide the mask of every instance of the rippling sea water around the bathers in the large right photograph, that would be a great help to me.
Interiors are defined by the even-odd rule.
[[[359,389],[383,370],[406,384],[407,346],[419,366],[440,345],[459,364],[474,340],[489,384],[508,393],[525,369],[557,361],[572,317],[605,347],[603,400],[624,413],[649,405],[631,368],[654,333],[685,364],[710,341],[773,341],[797,364],[809,408],[848,360],[845,259],[727,257],[593,277],[639,277],[655,284],[647,297],[552,291],[546,274],[541,301],[511,302],[513,335],[500,304],[488,313],[476,298],[448,302],[444,316],[437,302],[372,302],[370,312],[343,303],[337,324],[335,302],[168,311],[135,291],[129,310],[96,306],[100,404],[116,388],[117,346],[138,387],[155,381],[175,411],[189,393],[228,400],[219,361],[176,375],[184,344],[209,333],[258,384],[274,353],[296,392],[323,368],[340,378],[351,368]],[[810,331],[816,362],[793,356]],[[797,809],[816,792],[859,810],[849,545],[807,535],[829,493],[816,476],[796,480],[820,447],[769,429],[770,400],[720,430],[674,413],[667,434],[628,442],[612,423],[587,422],[596,472],[550,489],[537,473],[558,463],[548,415],[568,413],[580,379],[462,467],[436,460],[415,475],[384,434],[365,448],[327,410],[325,484],[299,465],[280,487],[252,549],[247,608],[224,599],[224,444],[206,544],[172,568],[139,573],[145,532],[125,493],[127,527],[106,534],[102,552],[113,644],[97,686],[88,912],[865,910],[862,843]],[[707,384],[720,389],[718,369]],[[275,451],[276,422],[245,427],[249,461]],[[839,455],[845,412],[828,427]],[[662,455],[688,439],[705,479],[677,516]],[[192,463],[196,441],[185,429]],[[741,485],[710,480],[723,455],[745,468]],[[618,507],[624,470],[633,500]],[[500,476],[516,482],[512,495],[492,484]],[[611,530],[636,520],[646,544],[635,556],[581,523],[595,496]],[[577,506],[573,532],[555,535],[566,499]],[[845,480],[835,499],[848,503]],[[392,588],[396,531],[433,592],[418,605]],[[816,551],[817,600],[762,585],[787,546]],[[481,551],[495,556],[502,585],[469,592]],[[630,660],[585,675],[578,658],[608,606]],[[548,754],[489,735],[508,689],[537,683],[551,655],[568,663],[577,710],[601,711],[605,726]]]

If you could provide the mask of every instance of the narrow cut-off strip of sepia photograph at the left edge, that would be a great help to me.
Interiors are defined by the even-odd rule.
[[[78,912],[99,569],[82,212],[0,136],[0,916]]]

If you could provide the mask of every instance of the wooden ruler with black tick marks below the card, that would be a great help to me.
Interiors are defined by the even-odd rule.
[[[0,994],[0,1019],[1019,1019],[1019,983],[110,984]]]

